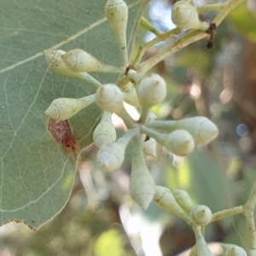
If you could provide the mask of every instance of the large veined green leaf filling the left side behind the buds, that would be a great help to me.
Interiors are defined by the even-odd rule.
[[[67,155],[47,131],[44,111],[58,97],[81,97],[96,89],[47,69],[43,49],[81,48],[119,65],[114,34],[104,15],[106,0],[2,0],[0,10],[0,223],[23,221],[33,229],[65,206],[73,187],[75,154]],[[133,44],[143,0],[126,0],[127,41]],[[101,83],[110,74],[92,74]],[[95,104],[72,119],[81,148],[92,143],[99,121]]]

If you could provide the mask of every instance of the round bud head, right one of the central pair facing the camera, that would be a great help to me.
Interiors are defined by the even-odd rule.
[[[152,108],[166,97],[166,82],[158,74],[150,74],[137,84],[137,96],[140,105]]]

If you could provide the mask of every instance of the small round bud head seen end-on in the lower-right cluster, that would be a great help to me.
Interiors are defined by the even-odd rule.
[[[198,205],[191,209],[189,213],[193,223],[205,226],[206,224],[210,223],[212,219],[212,211],[209,207],[204,205]]]

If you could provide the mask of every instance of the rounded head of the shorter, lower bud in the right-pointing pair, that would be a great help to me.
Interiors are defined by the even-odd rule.
[[[194,149],[195,143],[188,131],[176,130],[168,134],[164,146],[166,146],[172,154],[184,156]]]

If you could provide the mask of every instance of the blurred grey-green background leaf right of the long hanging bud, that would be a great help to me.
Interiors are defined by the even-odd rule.
[[[190,191],[198,204],[207,205],[212,212],[233,207],[235,200],[231,181],[210,154],[195,150],[186,157],[189,166]],[[189,190],[188,189],[188,190]]]

